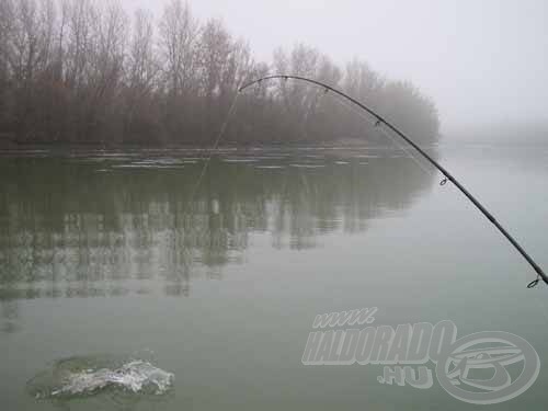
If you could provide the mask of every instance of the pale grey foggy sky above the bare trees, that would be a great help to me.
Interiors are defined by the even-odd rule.
[[[160,15],[162,0],[123,0]],[[445,130],[548,119],[548,0],[189,0],[259,59],[297,42],[431,95]]]

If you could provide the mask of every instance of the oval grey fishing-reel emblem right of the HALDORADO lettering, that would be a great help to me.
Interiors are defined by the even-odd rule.
[[[505,367],[517,363],[523,363],[522,372],[512,380]],[[475,404],[520,396],[535,383],[539,370],[535,349],[521,336],[502,331],[464,336],[444,351],[436,364],[439,385],[456,399]]]

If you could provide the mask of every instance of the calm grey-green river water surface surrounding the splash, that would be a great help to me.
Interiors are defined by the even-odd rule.
[[[431,150],[432,151],[432,150]],[[548,267],[548,149],[436,153]],[[453,320],[538,352],[540,374],[493,409],[548,408],[548,288],[450,184],[379,149],[0,153],[2,410],[461,410],[381,385],[381,365],[304,366],[317,315]],[[203,172],[205,170],[205,172]],[[142,357],[162,396],[35,399],[62,358]],[[432,367],[431,367],[432,368]]]

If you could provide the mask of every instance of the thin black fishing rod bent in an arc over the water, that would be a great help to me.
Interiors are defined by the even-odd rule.
[[[442,185],[445,185],[447,181],[450,181],[455,186],[478,208],[483,216],[491,221],[491,224],[496,227],[496,229],[510,241],[512,246],[520,252],[520,254],[529,263],[529,265],[535,270],[537,273],[537,278],[533,282],[530,282],[527,285],[527,288],[534,288],[538,285],[540,279],[543,279],[546,284],[548,284],[548,276],[545,274],[545,272],[540,269],[540,266],[530,258],[530,255],[524,250],[522,246],[510,235],[509,231],[489,213],[489,210],[473,196],[470,194],[470,192],[465,189],[465,186],[453,176],[452,173],[449,173],[442,164],[439,164],[436,160],[434,160],[431,156],[429,156],[421,147],[419,147],[411,138],[406,136],[402,132],[400,132],[396,126],[390,124],[385,117],[381,115],[377,114],[375,111],[372,109],[367,107],[365,104],[361,103],[359,101],[351,98],[350,95],[343,93],[340,90],[336,90],[332,88],[331,85],[328,85],[321,81],[308,79],[306,77],[300,77],[300,76],[286,76],[286,75],[276,75],[276,76],[266,76],[262,77],[260,79],[253,80],[244,85],[242,85],[238,91],[241,93],[246,89],[250,88],[251,85],[254,84],[260,84],[263,81],[266,80],[272,80],[272,79],[282,79],[282,80],[298,80],[298,81],[304,81],[307,83],[311,83],[315,85],[318,85],[322,88],[326,93],[328,92],[333,92],[336,95],[342,96],[343,99],[350,101],[351,103],[357,105],[359,109],[364,110],[366,113],[368,113],[370,116],[373,116],[376,121],[375,126],[379,127],[381,125],[386,125],[389,129],[391,129],[393,133],[396,133],[401,139],[403,139],[407,144],[409,144],[411,147],[413,147],[422,157],[424,157],[432,165],[434,165],[439,172],[444,175],[444,180],[442,181]]]

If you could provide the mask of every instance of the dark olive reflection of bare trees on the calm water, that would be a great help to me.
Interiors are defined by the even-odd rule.
[[[254,156],[254,157],[253,157]],[[195,152],[3,156],[0,300],[189,295],[219,279],[267,233],[306,251],[334,231],[364,233],[432,186],[411,159],[372,150],[218,153],[201,185]],[[376,157],[377,156],[377,157]],[[8,327],[8,326],[7,326]]]

